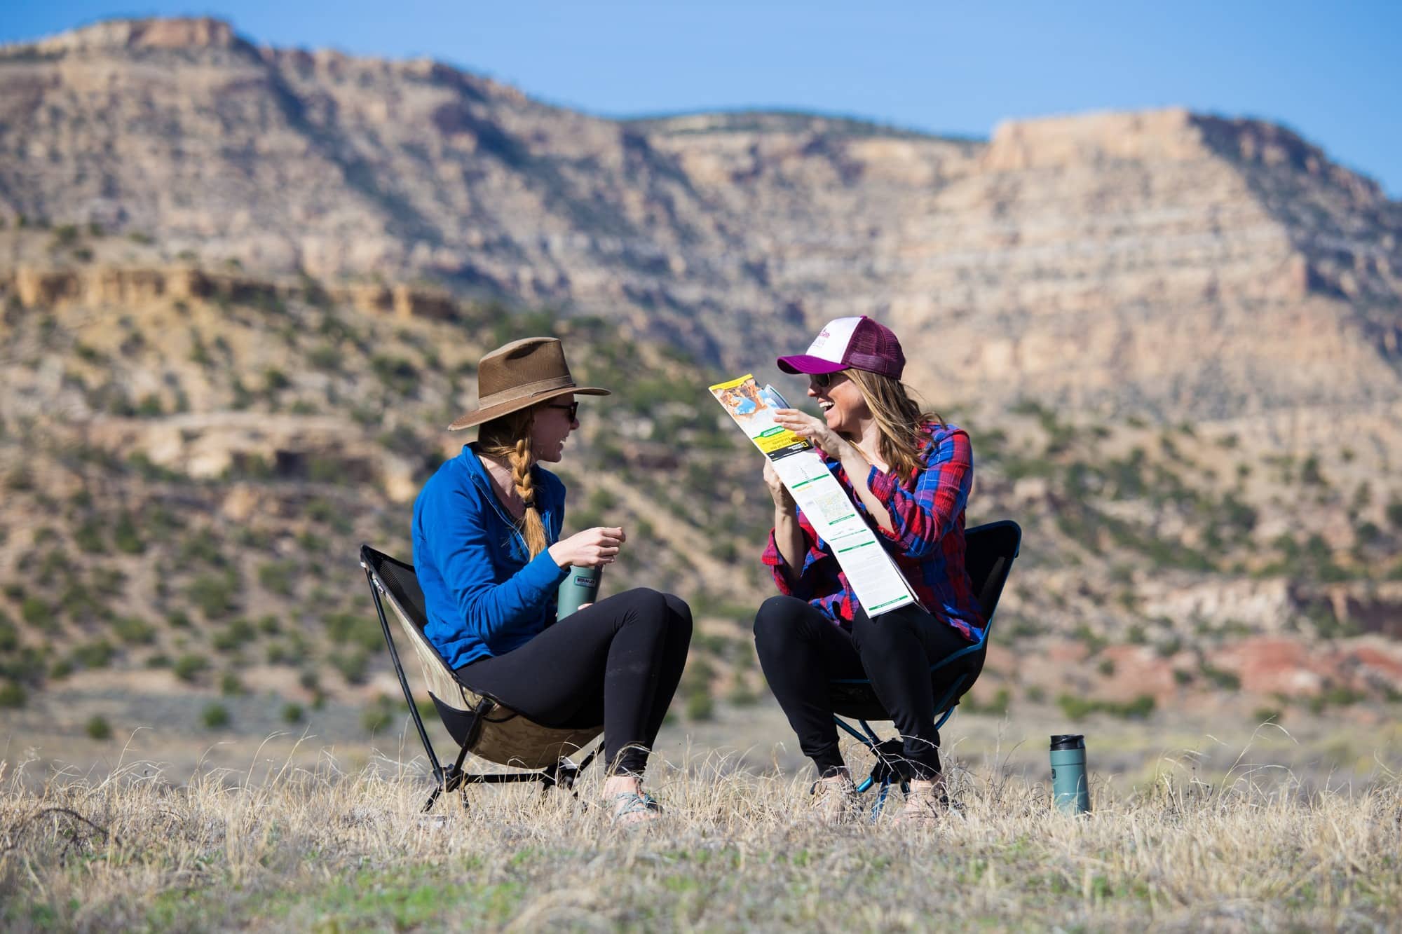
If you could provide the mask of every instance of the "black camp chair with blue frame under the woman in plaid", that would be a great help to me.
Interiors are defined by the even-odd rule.
[[[973,687],[979,673],[983,672],[983,662],[988,654],[988,634],[993,631],[993,611],[998,606],[1002,585],[1008,581],[1008,571],[1012,568],[1012,561],[1018,557],[1021,544],[1022,529],[1011,519],[990,522],[965,532],[965,567],[969,569],[969,579],[973,581],[974,595],[977,595],[979,606],[984,613],[983,638],[930,666],[930,672],[934,675],[935,670],[956,659],[967,656],[973,656],[974,659],[973,668],[955,679],[955,683],[949,686],[944,697],[935,700],[935,715],[939,717],[935,729],[945,725],[945,721],[955,712],[955,707],[959,705],[959,698]],[[880,815],[880,809],[886,804],[886,794],[890,791],[892,784],[899,781],[901,791],[910,790],[907,783],[900,777],[900,762],[904,757],[901,739],[896,736],[894,739],[883,740],[866,722],[869,719],[890,719],[890,714],[876,700],[869,679],[834,679],[829,682],[829,694],[833,701],[833,719],[837,725],[855,736],[859,743],[876,756],[872,774],[857,785],[858,794],[865,794],[872,785],[880,785],[880,792],[872,805],[872,819],[875,819]],[[862,732],[857,732],[843,717],[857,719],[862,726]]]

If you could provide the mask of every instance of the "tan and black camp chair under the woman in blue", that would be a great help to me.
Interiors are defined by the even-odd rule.
[[[370,583],[370,596],[374,597],[374,609],[380,614],[384,644],[390,648],[394,672],[400,676],[400,687],[404,689],[404,700],[409,704],[409,715],[414,718],[419,739],[423,740],[423,752],[428,753],[429,764],[433,767],[435,788],[423,805],[423,811],[430,811],[442,792],[451,794],[458,788],[463,790],[463,806],[467,806],[467,785],[472,784],[538,781],[543,790],[558,785],[572,791],[575,778],[603,749],[603,739],[579,764],[571,762],[568,756],[599,736],[603,726],[587,729],[543,726],[495,697],[474,691],[458,680],[433,644],[423,635],[428,616],[423,609],[423,590],[419,589],[414,565],[395,561],[370,546],[360,546],[360,567],[365,568],[366,581]],[[390,606],[394,617],[400,621],[404,637],[408,638],[415,655],[419,656],[419,666],[423,669],[423,680],[428,694],[433,700],[433,707],[453,742],[460,747],[457,762],[450,769],[443,769],[439,763],[433,743],[429,742],[429,733],[423,728],[423,718],[414,703],[414,691],[409,690],[409,682],[404,676],[404,665],[400,662],[394,634],[384,613],[386,604]],[[530,771],[467,774],[463,771],[463,760],[467,759],[467,753]]]

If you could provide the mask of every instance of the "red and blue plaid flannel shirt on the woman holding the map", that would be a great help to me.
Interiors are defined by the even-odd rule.
[[[962,428],[927,424],[927,440],[921,446],[925,468],[916,477],[914,488],[897,482],[894,474],[883,474],[875,467],[866,475],[866,487],[890,513],[893,533],[885,532],[866,512],[866,506],[852,491],[847,471],[837,460],[827,468],[843,484],[857,512],[866,519],[882,547],[906,575],[920,604],[937,618],[955,627],[966,639],[983,638],[983,611],[973,595],[973,583],[965,568],[965,506],[973,485],[973,449]],[[847,575],[837,564],[833,550],[817,537],[808,517],[799,510],[799,526],[808,554],[795,583],[785,576],[787,564],[774,543],[761,558],[774,574],[780,593],[808,600],[824,616],[844,628],[852,624],[857,595],[847,583]]]

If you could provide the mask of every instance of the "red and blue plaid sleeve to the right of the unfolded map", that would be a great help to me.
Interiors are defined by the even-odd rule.
[[[872,467],[866,485],[890,513],[893,532],[876,533],[896,543],[911,558],[930,555],[969,502],[973,485],[973,450],[963,429],[935,435],[925,468],[916,488],[906,489],[896,474]]]

